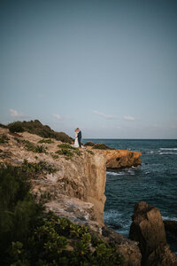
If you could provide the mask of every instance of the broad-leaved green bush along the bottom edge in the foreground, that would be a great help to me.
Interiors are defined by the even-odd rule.
[[[12,243],[11,256],[12,262],[21,263],[14,265],[124,265],[115,246],[94,237],[87,227],[52,213],[35,228],[27,246]]]

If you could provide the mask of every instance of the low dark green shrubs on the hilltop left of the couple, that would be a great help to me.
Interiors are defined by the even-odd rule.
[[[4,125],[2,125],[4,126]],[[73,138],[66,135],[64,132],[56,132],[50,129],[49,126],[42,125],[38,120],[35,121],[15,121],[10,123],[7,128],[12,132],[23,132],[27,131],[31,134],[36,134],[40,137],[55,138],[65,143],[72,143]]]

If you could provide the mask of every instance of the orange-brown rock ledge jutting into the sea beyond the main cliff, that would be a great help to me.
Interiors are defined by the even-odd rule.
[[[142,153],[126,150],[102,150],[102,153],[106,156],[107,169],[137,167],[142,163]]]

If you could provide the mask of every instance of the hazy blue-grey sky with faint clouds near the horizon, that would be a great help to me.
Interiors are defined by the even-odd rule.
[[[177,1],[0,0],[0,122],[177,138]]]

